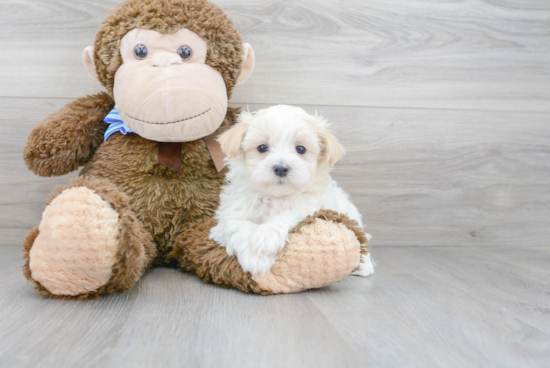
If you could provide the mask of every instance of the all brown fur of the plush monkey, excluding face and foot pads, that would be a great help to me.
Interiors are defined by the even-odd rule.
[[[94,190],[120,219],[118,261],[106,285],[85,295],[64,297],[53,296],[38,284],[42,294],[80,300],[125,291],[153,265],[178,266],[218,285],[270,293],[243,272],[224,248],[208,239],[227,169],[216,170],[202,139],[183,144],[181,173],[158,163],[158,142],[120,133],[103,142],[107,127],[103,118],[114,107],[114,74],[122,64],[121,38],[134,28],[172,33],[183,27],[207,41],[206,63],[221,73],[230,96],[243,62],[243,50],[241,38],[223,10],[206,0],[127,0],[109,13],[96,37],[94,60],[108,93],[69,103],[31,133],[24,157],[33,172],[63,175],[85,165],[81,176],[69,187]],[[234,124],[237,113],[236,109],[228,110],[220,133]],[[362,231],[347,217],[323,216],[350,227],[364,243]],[[307,221],[302,226],[307,226]],[[29,279],[29,251],[37,236],[38,228],[23,243],[27,259],[24,273]]]

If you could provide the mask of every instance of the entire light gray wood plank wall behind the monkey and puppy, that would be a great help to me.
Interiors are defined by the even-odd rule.
[[[81,63],[117,1],[0,4],[0,231],[19,245],[55,185],[21,151],[101,90]],[[323,112],[334,177],[374,246],[539,246],[550,237],[550,3],[220,0],[257,66],[234,106]]]

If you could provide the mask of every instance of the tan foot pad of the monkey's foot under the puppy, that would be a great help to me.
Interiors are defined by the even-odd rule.
[[[254,276],[275,294],[319,288],[340,281],[360,261],[355,233],[340,223],[316,219],[290,236],[279,259],[264,276]]]

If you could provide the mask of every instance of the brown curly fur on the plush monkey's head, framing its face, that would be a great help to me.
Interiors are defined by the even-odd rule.
[[[243,63],[241,36],[231,18],[206,0],[129,0],[111,11],[96,36],[94,57],[99,80],[109,93],[122,65],[120,40],[135,28],[163,34],[187,28],[198,34],[208,44],[206,64],[221,73],[231,98]]]

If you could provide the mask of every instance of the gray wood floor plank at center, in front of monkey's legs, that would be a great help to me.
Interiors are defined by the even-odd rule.
[[[359,354],[325,323],[305,294],[262,298],[220,290],[169,270],[155,270],[151,279],[142,284],[140,302],[120,340],[97,367],[290,367],[308,362],[335,367],[359,362]],[[147,330],[136,329],[142,321],[148,321]],[[148,338],[134,339],[138,332]],[[185,354],[172,356],[182,348]],[[160,358],[159,351],[166,356]]]

